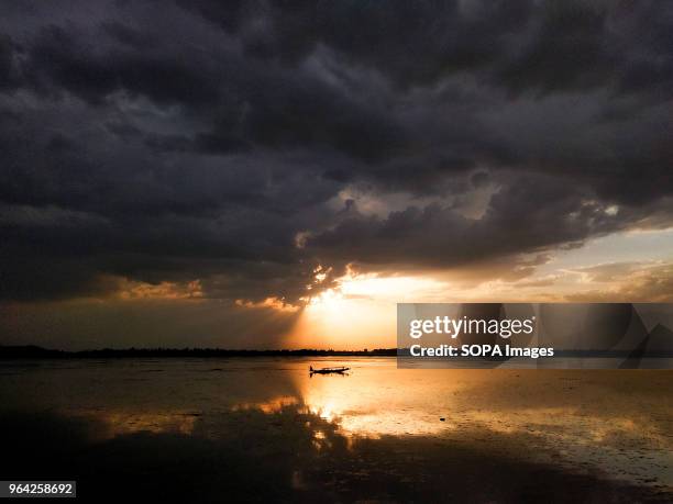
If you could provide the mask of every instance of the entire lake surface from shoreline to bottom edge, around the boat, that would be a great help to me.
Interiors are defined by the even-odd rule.
[[[5,361],[0,426],[1,480],[80,501],[673,501],[669,371]]]

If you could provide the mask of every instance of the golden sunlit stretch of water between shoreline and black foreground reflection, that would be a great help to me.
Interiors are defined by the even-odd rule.
[[[309,365],[351,371],[311,377]],[[64,361],[7,374],[3,408],[57,411],[91,424],[93,438],[250,429],[276,439],[298,426],[316,450],[432,438],[673,485],[666,371],[401,370],[363,358]]]

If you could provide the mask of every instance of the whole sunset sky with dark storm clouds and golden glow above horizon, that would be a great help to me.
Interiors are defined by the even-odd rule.
[[[0,335],[394,346],[673,301],[673,3],[0,5]]]

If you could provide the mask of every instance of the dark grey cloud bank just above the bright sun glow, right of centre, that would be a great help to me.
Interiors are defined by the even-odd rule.
[[[352,209],[339,225],[309,237],[306,246],[330,261],[357,257],[378,268],[441,268],[495,260],[522,250],[540,251],[625,225],[622,217],[606,213],[605,206],[592,202],[591,193],[578,190],[572,181],[512,173],[508,179],[510,186],[492,197],[478,220],[439,204],[409,206],[385,219]],[[629,220],[636,219],[629,215]],[[510,260],[516,267],[517,261]]]

